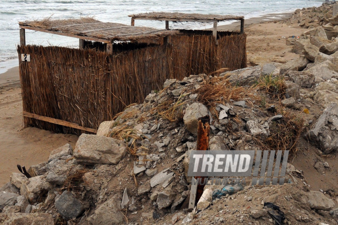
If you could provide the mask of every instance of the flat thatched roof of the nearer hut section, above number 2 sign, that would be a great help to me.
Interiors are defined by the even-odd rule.
[[[104,43],[112,43],[114,40],[137,40],[149,37],[163,37],[174,35],[177,32],[149,27],[134,27],[117,23],[104,23],[88,17],[80,19],[26,21],[19,22],[19,26],[24,29]]]

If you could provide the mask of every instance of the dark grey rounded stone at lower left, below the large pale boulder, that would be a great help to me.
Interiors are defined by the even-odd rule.
[[[55,199],[57,212],[65,219],[78,217],[83,212],[83,204],[69,191],[64,191]]]

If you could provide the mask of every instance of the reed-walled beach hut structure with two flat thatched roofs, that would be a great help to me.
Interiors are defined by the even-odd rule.
[[[132,26],[93,18],[19,22],[19,73],[25,127],[95,133],[132,103],[142,103],[168,78],[246,67],[241,16],[184,13],[131,15]],[[165,21],[166,29],[134,26],[135,19]],[[239,32],[217,23],[241,21]],[[214,29],[169,30],[168,21],[212,22]],[[79,48],[26,45],[25,30],[79,39]]]

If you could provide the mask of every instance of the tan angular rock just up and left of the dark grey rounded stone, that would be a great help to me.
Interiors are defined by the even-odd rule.
[[[52,186],[46,181],[46,178],[41,176],[31,177],[23,183],[20,188],[20,194],[24,195],[29,202],[33,203],[37,200],[41,193],[48,191]]]

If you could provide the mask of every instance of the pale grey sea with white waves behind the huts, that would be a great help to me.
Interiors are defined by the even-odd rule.
[[[49,17],[65,19],[94,16],[95,19],[102,22],[129,25],[130,17],[128,15],[155,11],[244,15],[247,19],[269,13],[290,12],[298,8],[320,5],[321,2],[308,0],[1,0],[0,69],[13,64],[7,62],[8,60],[10,62],[17,60],[16,45],[19,44],[19,21]],[[163,29],[164,24],[163,22],[137,20],[135,26]],[[170,27],[205,29],[212,27],[212,24],[170,23]],[[72,47],[78,46],[78,39],[26,30],[26,44]]]

